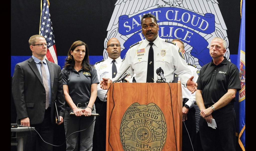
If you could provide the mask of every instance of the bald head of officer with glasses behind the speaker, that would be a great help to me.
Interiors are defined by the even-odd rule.
[[[107,42],[107,48],[108,56],[115,60],[118,57],[120,57],[121,54],[121,46],[120,42],[117,38],[110,38],[109,41]]]

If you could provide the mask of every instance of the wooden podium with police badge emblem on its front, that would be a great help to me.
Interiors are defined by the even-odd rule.
[[[106,150],[182,150],[178,83],[108,83]]]

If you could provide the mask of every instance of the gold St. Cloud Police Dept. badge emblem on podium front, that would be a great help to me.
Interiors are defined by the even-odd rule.
[[[124,113],[120,124],[120,139],[125,151],[161,151],[166,134],[164,114],[155,103],[133,103]]]

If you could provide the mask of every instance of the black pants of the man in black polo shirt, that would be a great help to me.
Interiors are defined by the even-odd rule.
[[[212,112],[217,124],[216,129],[208,126],[204,118],[200,117],[199,131],[203,150],[207,151],[235,151],[236,150],[236,115],[231,104]]]

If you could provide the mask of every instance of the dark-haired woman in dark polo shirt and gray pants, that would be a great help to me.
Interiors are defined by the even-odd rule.
[[[94,101],[97,97],[99,80],[95,68],[89,64],[89,50],[86,43],[75,41],[71,45],[61,72],[67,102],[64,118],[67,151],[78,150],[79,135],[80,150],[92,150],[96,117],[90,115],[96,113]],[[74,115],[70,115],[70,112]]]

